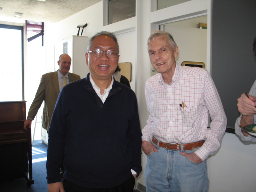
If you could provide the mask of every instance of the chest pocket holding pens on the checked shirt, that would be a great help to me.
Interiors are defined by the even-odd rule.
[[[182,126],[193,127],[197,117],[197,106],[180,107]]]

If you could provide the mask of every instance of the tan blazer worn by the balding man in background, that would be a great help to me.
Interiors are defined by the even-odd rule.
[[[81,79],[79,75],[74,73],[68,73],[68,78],[70,83]],[[36,92],[36,97],[28,111],[28,118],[34,120],[38,109],[44,101],[42,126],[47,131],[49,130],[53,109],[55,107],[59,93],[60,88],[57,71],[42,75],[39,87]]]

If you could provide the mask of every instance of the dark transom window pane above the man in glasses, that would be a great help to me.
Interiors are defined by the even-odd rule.
[[[109,0],[108,24],[135,17],[136,0]]]

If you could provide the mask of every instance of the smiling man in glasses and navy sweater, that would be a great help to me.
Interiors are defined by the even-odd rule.
[[[133,191],[141,129],[135,93],[112,76],[118,53],[114,34],[94,35],[85,54],[91,73],[60,92],[49,128],[49,192]]]

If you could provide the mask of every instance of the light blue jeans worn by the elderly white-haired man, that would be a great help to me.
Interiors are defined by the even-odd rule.
[[[197,164],[180,155],[181,150],[168,150],[157,146],[156,148],[158,152],[148,155],[145,171],[147,192],[208,191],[206,160]]]

